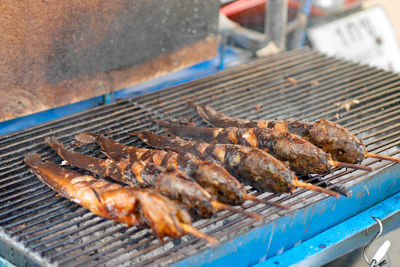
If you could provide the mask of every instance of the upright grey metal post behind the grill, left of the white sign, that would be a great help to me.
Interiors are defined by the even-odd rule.
[[[269,0],[266,2],[265,34],[275,45],[285,50],[288,0]]]

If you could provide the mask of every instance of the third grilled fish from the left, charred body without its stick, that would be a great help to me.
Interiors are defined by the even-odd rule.
[[[239,205],[244,202],[246,193],[244,186],[215,162],[199,160],[190,153],[178,154],[172,151],[127,146],[94,133],[81,133],[77,139],[82,143],[97,142],[106,154],[115,160],[124,159],[130,162],[139,160],[144,163],[152,162],[167,169],[178,168],[193,177],[207,192],[225,204]]]

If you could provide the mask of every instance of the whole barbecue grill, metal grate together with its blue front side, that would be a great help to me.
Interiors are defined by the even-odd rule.
[[[191,102],[250,119],[325,118],[361,137],[368,151],[400,154],[398,75],[308,48],[283,52],[0,136],[0,255],[18,265],[285,265],[279,258],[281,253],[300,248],[307,240],[400,191],[400,165],[376,159],[363,162],[376,168],[371,173],[337,169],[320,177],[317,184],[329,182],[350,188],[353,194],[348,198],[335,199],[303,189],[292,195],[261,194],[248,187],[251,194],[289,205],[292,210],[246,202],[243,209],[266,220],[257,222],[224,211],[196,221],[195,227],[220,241],[211,247],[192,236],[163,243],[149,229],[126,228],[100,218],[58,196],[22,161],[26,154],[36,152],[61,163],[44,143],[47,136],[73,146],[75,134],[94,131],[118,142],[144,146],[128,133],[145,129],[162,132],[149,118],[185,119],[205,125],[188,106]],[[76,150],[102,157],[95,145]],[[317,250],[323,251],[324,246]]]

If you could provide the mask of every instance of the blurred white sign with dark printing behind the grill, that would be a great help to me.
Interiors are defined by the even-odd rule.
[[[307,35],[314,48],[330,56],[400,72],[396,34],[381,6],[311,27]]]

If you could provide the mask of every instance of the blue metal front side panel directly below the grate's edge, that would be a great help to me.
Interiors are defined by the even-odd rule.
[[[350,198],[327,197],[173,266],[250,266],[269,260],[398,193],[399,178],[400,164],[392,164],[353,185]]]

